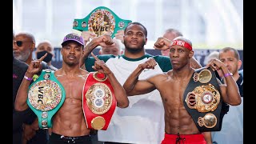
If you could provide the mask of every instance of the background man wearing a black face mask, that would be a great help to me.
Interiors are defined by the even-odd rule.
[[[51,70],[58,70],[58,68],[51,64],[51,60],[54,58],[54,46],[50,43],[50,41],[45,40],[38,43],[38,47],[34,53],[38,59],[47,53],[47,56],[43,59],[43,61],[47,63]]]

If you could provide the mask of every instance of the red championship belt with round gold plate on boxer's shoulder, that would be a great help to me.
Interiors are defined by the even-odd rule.
[[[90,72],[82,91],[82,110],[88,129],[106,130],[117,106],[106,74]]]

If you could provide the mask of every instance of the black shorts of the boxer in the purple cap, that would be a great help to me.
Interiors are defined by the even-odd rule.
[[[49,144],[76,143],[92,144],[90,134],[79,137],[67,137],[60,134],[51,133]]]

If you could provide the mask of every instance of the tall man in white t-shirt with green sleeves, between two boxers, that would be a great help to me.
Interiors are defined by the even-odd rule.
[[[172,69],[169,57],[146,54],[144,49],[147,42],[146,36],[146,27],[139,22],[132,22],[124,31],[124,54],[118,56],[98,55],[99,59],[106,62],[121,85],[138,64],[146,62],[148,58],[154,58],[158,62],[158,66],[155,66],[154,70],[144,70],[138,79],[149,78],[154,74],[162,74]],[[95,59],[88,56],[96,46],[104,45],[106,41],[109,39],[102,35],[87,44],[80,66],[85,66],[88,71],[94,71],[91,66]],[[197,61],[193,62],[199,66]],[[98,130],[98,140],[105,144],[161,143],[165,132],[164,109],[158,90],[138,97],[129,97],[129,101],[130,105],[126,109],[116,108],[107,130]]]

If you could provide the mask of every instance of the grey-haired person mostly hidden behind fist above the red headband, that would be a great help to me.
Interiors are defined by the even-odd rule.
[[[165,34],[163,34],[162,37],[167,38],[170,41],[172,41],[174,38],[176,38],[178,36],[183,36],[183,34],[180,31],[176,30],[176,29],[167,29]],[[170,49],[161,50],[161,54],[164,55],[164,56],[169,57]]]

